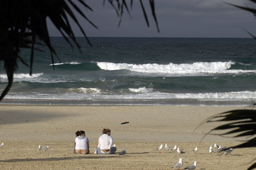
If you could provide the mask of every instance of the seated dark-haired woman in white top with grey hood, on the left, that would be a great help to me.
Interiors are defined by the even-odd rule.
[[[88,154],[89,151],[89,140],[85,137],[85,132],[83,130],[77,131],[75,133],[77,137],[75,138],[75,152],[78,154]]]

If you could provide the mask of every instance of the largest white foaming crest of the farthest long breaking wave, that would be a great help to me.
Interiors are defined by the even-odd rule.
[[[195,74],[195,73],[239,73],[256,72],[256,70],[229,70],[235,62],[194,62],[193,64],[127,64],[97,62],[98,67],[105,70],[128,69],[144,73]]]

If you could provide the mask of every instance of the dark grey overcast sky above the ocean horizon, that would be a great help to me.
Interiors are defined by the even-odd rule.
[[[256,8],[249,0],[225,0],[226,2]],[[250,37],[243,29],[256,35],[256,17],[252,13],[230,6],[220,0],[155,0],[155,12],[159,30],[157,32],[154,18],[149,7],[149,0],[143,0],[149,27],[146,25],[139,0],[134,0],[131,18],[127,11],[122,17],[118,28],[119,18],[108,1],[84,0],[93,11],[78,6],[97,27],[91,26],[78,13],[82,28],[88,37]],[[127,0],[130,3],[130,0]],[[130,8],[130,6],[129,6]],[[73,31],[77,37],[83,36],[73,22]],[[48,20],[50,36],[61,36]]]

